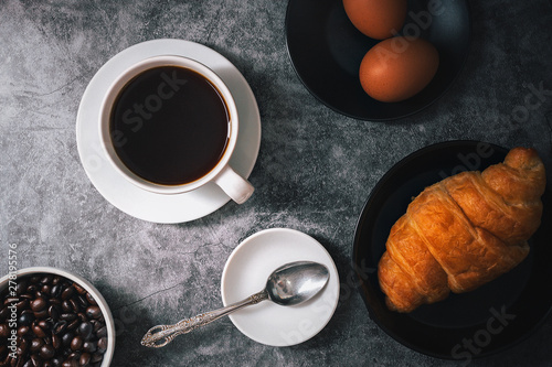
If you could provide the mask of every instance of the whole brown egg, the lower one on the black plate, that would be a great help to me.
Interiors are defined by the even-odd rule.
[[[374,99],[401,101],[424,89],[438,66],[439,54],[433,44],[396,36],[378,43],[364,55],[360,84]]]

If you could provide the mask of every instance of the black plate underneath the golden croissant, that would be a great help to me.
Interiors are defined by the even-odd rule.
[[[388,310],[379,285],[375,269],[385,251],[390,229],[406,212],[411,198],[445,176],[461,170],[481,171],[501,162],[506,153],[505,148],[475,141],[424,148],[396,163],[375,185],[364,205],[353,246],[359,290],[370,317],[412,349],[439,358],[470,360],[513,345],[551,313],[550,190],[542,197],[541,227],[529,240],[531,251],[510,272],[473,292],[450,294],[445,301],[422,305],[408,314]]]

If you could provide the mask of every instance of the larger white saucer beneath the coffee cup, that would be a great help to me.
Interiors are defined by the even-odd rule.
[[[161,195],[138,188],[107,161],[100,144],[99,111],[109,85],[130,65],[158,55],[178,55],[199,61],[213,69],[231,90],[240,116],[237,144],[230,160],[232,168],[248,177],[261,144],[261,116],[255,96],[237,68],[217,52],[182,40],[153,40],[139,43],[115,55],[92,78],[76,119],[76,142],[84,170],[97,191],[120,211],[155,223],[183,223],[219,209],[230,197],[215,184],[193,192]]]

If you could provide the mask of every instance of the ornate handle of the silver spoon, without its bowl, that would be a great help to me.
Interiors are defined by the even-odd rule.
[[[263,290],[258,293],[255,293],[243,301],[233,303],[225,307],[205,312],[199,314],[197,316],[184,319],[176,323],[174,325],[157,325],[151,327],[146,335],[144,335],[141,339],[141,345],[151,347],[151,348],[160,348],[172,342],[174,337],[180,334],[190,333],[191,331],[206,325],[222,316],[226,316],[227,314],[243,309],[245,306],[257,304],[261,301],[267,300],[268,293],[266,290]],[[161,343],[158,343],[161,341]]]

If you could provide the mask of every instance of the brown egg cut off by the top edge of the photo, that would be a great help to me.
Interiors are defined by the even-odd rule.
[[[401,31],[406,0],[343,0],[351,23],[369,37],[389,39]]]

